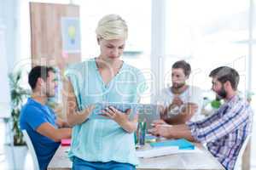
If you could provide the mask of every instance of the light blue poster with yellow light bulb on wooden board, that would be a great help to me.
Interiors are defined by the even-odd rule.
[[[79,18],[61,18],[62,48],[66,54],[80,53],[80,22]]]

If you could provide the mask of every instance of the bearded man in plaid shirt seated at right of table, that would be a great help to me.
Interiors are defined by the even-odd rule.
[[[221,66],[213,70],[212,90],[224,105],[212,116],[199,122],[186,122],[181,125],[164,127],[162,120],[155,121],[149,132],[169,139],[185,138],[195,142],[207,143],[207,149],[227,170],[235,167],[241,145],[251,133],[253,112],[247,101],[236,94],[239,74],[236,70]],[[184,110],[196,110],[196,105]]]

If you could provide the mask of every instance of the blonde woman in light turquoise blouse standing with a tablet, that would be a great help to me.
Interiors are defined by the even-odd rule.
[[[125,20],[119,15],[104,16],[96,28],[101,54],[71,65],[66,71],[67,122],[73,126],[69,157],[73,169],[127,170],[135,169],[138,163],[133,136],[137,116],[130,120],[129,111],[122,113],[111,107],[104,112],[108,119],[90,119],[91,105],[135,103],[145,89],[142,72],[120,59],[127,31]]]

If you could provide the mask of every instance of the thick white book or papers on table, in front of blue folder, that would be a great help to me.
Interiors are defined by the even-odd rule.
[[[138,157],[149,158],[157,156],[167,156],[176,154],[178,152],[177,146],[158,147],[149,150],[137,150],[136,154]]]

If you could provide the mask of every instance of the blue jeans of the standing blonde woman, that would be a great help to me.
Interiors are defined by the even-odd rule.
[[[73,159],[73,170],[135,170],[135,166],[129,163],[119,163],[116,161],[84,161],[79,157]]]

